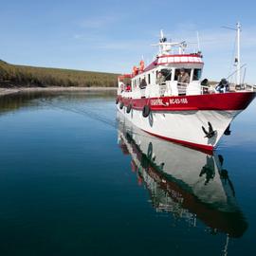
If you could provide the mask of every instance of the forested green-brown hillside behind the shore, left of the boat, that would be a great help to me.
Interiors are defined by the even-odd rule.
[[[118,74],[8,64],[0,60],[0,87],[117,86]]]

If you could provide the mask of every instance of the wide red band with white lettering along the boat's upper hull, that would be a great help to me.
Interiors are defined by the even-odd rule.
[[[127,99],[119,97],[125,106],[137,110],[149,105],[152,111],[244,110],[255,98],[255,92],[235,92],[176,97]]]

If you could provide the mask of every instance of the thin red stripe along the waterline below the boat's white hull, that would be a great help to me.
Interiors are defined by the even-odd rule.
[[[179,139],[172,138],[172,137],[163,137],[163,136],[155,135],[154,133],[150,133],[150,132],[145,131],[145,130],[143,130],[143,131],[148,133],[149,135],[159,137],[161,139],[165,139],[165,140],[168,140],[168,141],[172,141],[174,143],[181,144],[183,146],[199,150],[199,151],[201,151],[203,153],[206,153],[206,154],[212,155],[212,152],[214,150],[213,146],[210,146],[210,145],[196,144],[196,143],[192,143],[192,142],[185,141],[185,140],[179,140]]]

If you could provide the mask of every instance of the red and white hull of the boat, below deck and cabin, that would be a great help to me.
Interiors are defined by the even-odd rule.
[[[209,97],[206,98],[202,95],[197,97],[197,101],[200,101],[197,105],[195,105],[195,98],[189,96],[150,100],[119,99],[118,110],[138,128],[155,137],[203,151],[212,151],[216,148],[232,119],[243,111],[255,97],[254,93],[232,95],[232,98],[230,97],[231,94],[229,94],[229,99],[226,99],[229,102],[222,102],[224,99],[220,99],[221,102],[219,102],[219,98],[223,98],[223,96],[220,95],[218,97],[218,95],[215,95],[215,109],[212,101],[210,101],[213,100],[214,102],[214,99],[209,99]],[[201,102],[206,101],[206,99],[210,102],[202,105]],[[181,103],[170,105],[169,102],[172,101]],[[120,108],[120,102],[123,104],[122,108]],[[132,104],[133,108],[127,113],[129,104]],[[144,118],[142,106],[146,104],[150,106],[151,112],[147,118]],[[210,126],[213,129],[213,133],[212,136],[208,137],[205,131],[209,132]]]

